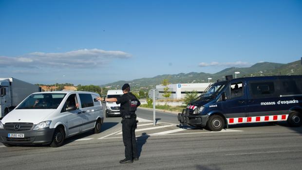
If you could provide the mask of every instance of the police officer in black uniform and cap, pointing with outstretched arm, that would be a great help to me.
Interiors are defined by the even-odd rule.
[[[133,163],[138,160],[135,128],[136,128],[136,108],[140,105],[139,100],[130,93],[129,84],[124,84],[122,87],[123,95],[117,98],[101,98],[98,100],[116,102],[121,104],[120,113],[122,116],[122,131],[123,131],[123,142],[125,145],[125,159],[120,160],[121,164]]]

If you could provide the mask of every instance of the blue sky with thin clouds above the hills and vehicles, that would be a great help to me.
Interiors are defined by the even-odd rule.
[[[289,63],[301,30],[301,0],[0,0],[0,77],[100,85]]]

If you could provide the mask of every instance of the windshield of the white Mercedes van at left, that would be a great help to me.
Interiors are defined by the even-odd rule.
[[[57,109],[66,94],[31,94],[16,109]]]

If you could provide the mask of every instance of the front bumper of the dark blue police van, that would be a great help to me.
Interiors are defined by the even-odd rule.
[[[177,119],[182,125],[205,127],[207,125],[208,115],[188,115],[186,113],[178,113]]]

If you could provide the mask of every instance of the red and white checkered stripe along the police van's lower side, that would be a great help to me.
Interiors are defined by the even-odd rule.
[[[268,115],[268,116],[255,116],[255,117],[236,117],[227,118],[229,125],[238,123],[257,123],[257,122],[274,122],[287,120],[288,114],[282,115]]]

